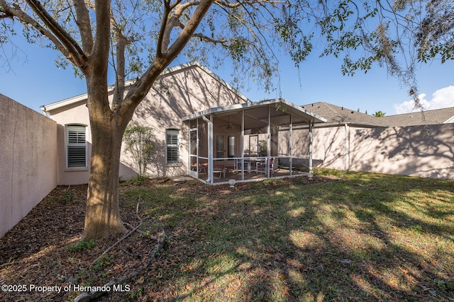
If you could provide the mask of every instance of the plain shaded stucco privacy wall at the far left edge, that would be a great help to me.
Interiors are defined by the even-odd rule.
[[[0,94],[0,237],[57,185],[57,124]]]

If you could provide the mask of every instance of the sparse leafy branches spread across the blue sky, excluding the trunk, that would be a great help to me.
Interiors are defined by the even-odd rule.
[[[453,59],[450,0],[209,2],[182,53],[215,67],[231,58],[238,85],[243,76],[253,76],[269,90],[272,76],[278,74],[281,51],[299,66],[314,44],[322,47],[322,56],[341,57],[345,75],[367,72],[378,62],[415,93],[416,64]],[[126,79],[142,76],[156,57],[175,46],[199,5],[198,1],[111,1],[111,69],[124,73]],[[57,66],[73,64],[83,75],[84,64],[72,52],[84,57],[92,46],[96,1],[1,0],[0,12],[0,42],[17,34],[11,21],[18,18],[28,42],[60,50]],[[88,18],[89,23],[82,22]],[[124,57],[118,57],[122,48]]]

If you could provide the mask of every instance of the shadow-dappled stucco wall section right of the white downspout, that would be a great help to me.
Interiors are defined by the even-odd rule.
[[[350,170],[454,178],[454,124],[351,130]]]

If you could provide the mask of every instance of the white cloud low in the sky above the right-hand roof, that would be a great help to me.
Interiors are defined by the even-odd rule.
[[[419,99],[421,100],[421,104],[425,110],[454,107],[454,86],[438,89],[438,91],[432,94],[432,98],[430,100],[426,99],[425,93],[421,93],[419,95]],[[413,100],[407,100],[403,103],[394,104],[394,110],[396,110],[397,115],[418,111],[418,109],[414,108]]]

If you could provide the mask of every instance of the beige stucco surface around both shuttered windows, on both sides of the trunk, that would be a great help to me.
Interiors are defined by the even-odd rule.
[[[244,103],[245,100],[209,71],[194,65],[164,74],[136,108],[131,122],[155,130],[157,154],[148,173],[152,177],[187,175],[188,170],[188,126],[181,118],[201,110],[224,105]],[[89,169],[67,169],[65,154],[65,125],[87,125],[88,146],[92,143],[89,116],[85,100],[48,112],[58,124],[58,183],[74,185],[87,183]],[[180,162],[166,163],[166,129],[180,130]],[[90,148],[88,148],[90,150]],[[90,156],[88,151],[88,158]],[[135,167],[130,154],[122,151],[120,178],[131,178]]]

